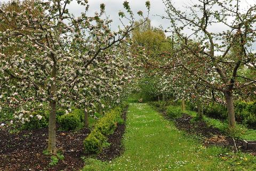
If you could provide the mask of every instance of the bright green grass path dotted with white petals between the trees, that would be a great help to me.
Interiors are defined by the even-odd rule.
[[[147,104],[130,104],[124,146],[125,151],[121,157],[109,163],[88,160],[84,170],[256,169],[256,165],[255,168],[246,168],[251,162],[249,157],[241,158],[239,154],[231,154],[222,148],[204,148]]]

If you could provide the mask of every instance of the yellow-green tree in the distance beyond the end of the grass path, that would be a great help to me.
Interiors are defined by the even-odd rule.
[[[142,24],[141,24],[142,23]],[[139,63],[141,63],[139,86],[143,94],[149,97],[158,97],[161,95],[165,99],[165,95],[170,94],[166,90],[166,84],[161,74],[158,73],[157,68],[153,69],[154,64],[164,62],[162,54],[170,48],[169,40],[166,38],[164,32],[160,28],[154,28],[147,22],[137,21],[136,27],[132,31],[132,42],[141,47],[142,56]]]

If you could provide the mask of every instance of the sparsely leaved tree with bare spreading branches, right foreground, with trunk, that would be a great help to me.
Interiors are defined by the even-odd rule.
[[[171,0],[164,1],[165,18],[171,21],[181,52],[175,53],[173,62],[168,65],[172,69],[175,67],[175,70],[183,69],[188,76],[199,79],[206,88],[222,92],[230,127],[235,126],[234,91],[245,91],[256,83],[255,76],[248,78],[239,72],[244,66],[255,65],[252,43],[256,36],[253,27],[256,5],[243,10],[239,2],[203,0],[181,11]],[[227,29],[212,30],[213,25]],[[191,35],[186,34],[188,30]],[[234,51],[230,53],[232,48]]]

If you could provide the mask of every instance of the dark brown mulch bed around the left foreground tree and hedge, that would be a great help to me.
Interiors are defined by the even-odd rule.
[[[123,114],[125,119],[126,112]],[[98,155],[98,159],[109,161],[123,152],[121,139],[125,131],[125,125],[117,126],[114,134],[108,137],[109,148],[104,149]],[[33,131],[20,131],[10,134],[7,129],[0,130],[0,170],[78,170],[83,168],[84,161],[83,141],[89,135],[89,129],[81,129],[77,132],[57,131],[57,149],[63,152],[64,160],[60,160],[56,166],[49,167],[50,156],[43,154],[47,148],[48,129],[41,128]]]

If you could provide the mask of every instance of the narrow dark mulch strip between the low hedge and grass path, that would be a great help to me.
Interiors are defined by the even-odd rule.
[[[125,132],[126,112],[127,107],[122,115],[122,118],[124,119],[124,124],[117,125],[114,134],[111,134],[108,137],[108,142],[110,143],[110,146],[106,149],[103,149],[103,151],[98,155],[99,160],[110,161],[118,156],[121,156],[121,154],[123,153],[124,146],[122,144],[122,139]]]

